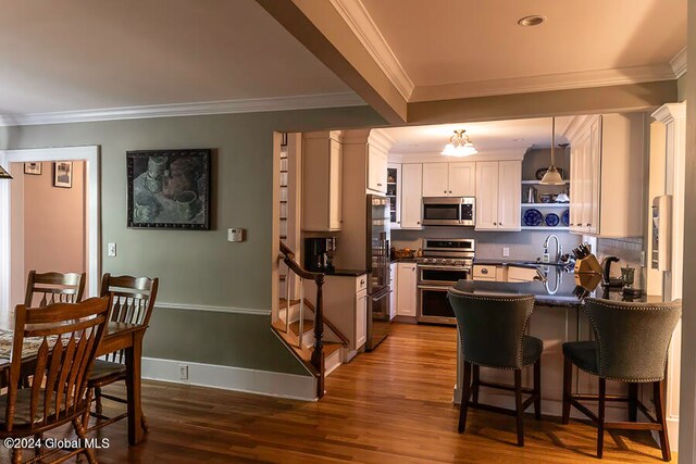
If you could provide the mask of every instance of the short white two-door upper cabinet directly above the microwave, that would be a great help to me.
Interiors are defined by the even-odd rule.
[[[424,163],[423,197],[473,197],[476,163]]]

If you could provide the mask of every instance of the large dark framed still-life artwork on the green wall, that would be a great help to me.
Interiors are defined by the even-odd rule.
[[[126,152],[128,227],[209,230],[211,152]]]

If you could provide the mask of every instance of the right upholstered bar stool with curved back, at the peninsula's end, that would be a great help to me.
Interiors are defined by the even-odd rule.
[[[667,350],[682,314],[681,303],[627,303],[591,298],[586,301],[585,312],[596,341],[563,343],[562,423],[568,424],[571,406],[589,417],[597,426],[597,457],[602,455],[605,429],[657,430],[662,459],[670,461],[663,384]],[[573,365],[599,377],[599,394],[572,393]],[[607,380],[627,383],[629,396],[608,397]],[[652,384],[655,417],[638,400],[638,384]],[[581,401],[597,401],[597,414]],[[630,422],[606,422],[607,401],[627,402]],[[648,417],[648,423],[636,423],[638,409]]]

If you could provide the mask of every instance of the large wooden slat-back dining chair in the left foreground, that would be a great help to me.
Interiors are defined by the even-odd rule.
[[[41,437],[45,431],[72,423],[78,438],[85,438],[82,418],[89,407],[87,373],[104,335],[109,313],[108,298],[82,303],[54,303],[45,308],[18,305],[14,316],[10,383],[0,396],[0,438]],[[22,365],[30,360],[33,381],[22,387]],[[61,450],[41,454],[44,461]],[[62,462],[85,454],[96,463],[87,448],[62,450]],[[22,461],[22,449],[12,449],[12,462]]]

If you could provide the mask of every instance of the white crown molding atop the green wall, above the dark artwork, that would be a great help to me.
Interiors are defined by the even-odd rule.
[[[153,104],[53,113],[0,116],[0,126],[87,123],[95,121],[140,120],[148,117],[197,116],[209,114],[259,113],[268,111],[314,110],[321,108],[363,106],[353,92],[318,93],[293,97],[206,101],[198,103]]]

